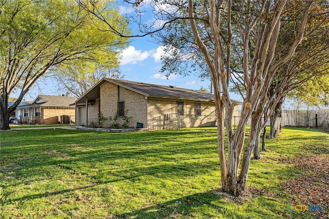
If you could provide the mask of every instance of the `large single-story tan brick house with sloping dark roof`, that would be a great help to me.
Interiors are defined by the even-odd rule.
[[[239,116],[239,101],[234,113]],[[216,125],[214,96],[199,90],[103,78],[76,102],[77,125],[97,126],[98,115],[131,117],[149,130]],[[113,121],[112,121],[113,122]],[[122,121],[121,121],[122,122]],[[103,127],[108,127],[107,119]]]

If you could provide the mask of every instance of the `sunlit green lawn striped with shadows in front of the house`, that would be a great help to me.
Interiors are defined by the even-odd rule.
[[[329,154],[329,134],[284,128],[267,140],[263,161],[251,160],[247,184],[254,192],[232,200],[218,193],[214,128],[0,135],[1,218],[308,218],[285,210],[293,203],[279,186],[302,170],[280,160]]]

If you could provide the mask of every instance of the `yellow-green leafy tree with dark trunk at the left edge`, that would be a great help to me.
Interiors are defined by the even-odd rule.
[[[109,23],[129,34],[125,20],[111,1],[95,5]],[[120,21],[120,22],[117,22]],[[2,0],[0,2],[0,121],[9,129],[9,115],[28,90],[51,68],[68,67],[93,72],[98,65],[113,63],[127,40],[99,31],[104,26],[73,0]],[[10,94],[18,93],[8,107]]]

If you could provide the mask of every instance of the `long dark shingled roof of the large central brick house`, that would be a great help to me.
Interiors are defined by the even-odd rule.
[[[194,100],[194,101],[214,101],[214,95],[202,92],[200,90],[192,90],[186,88],[179,88],[175,86],[163,86],[157,84],[141,83],[134,81],[126,81],[120,79],[103,78],[93,88],[89,89],[86,94],[81,96],[76,103],[84,103],[86,98],[97,99],[99,97],[99,86],[105,82],[111,82],[116,85],[122,86],[126,89],[132,90],[136,93],[147,97],[154,98],[170,98],[181,100]],[[240,101],[232,100],[233,104],[242,104]]]

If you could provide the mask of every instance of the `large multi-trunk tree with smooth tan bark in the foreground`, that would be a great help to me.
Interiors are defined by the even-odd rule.
[[[106,19],[93,7],[94,1],[79,1],[84,9],[107,24]],[[277,50],[277,41],[282,31],[285,9],[293,1],[124,1],[136,9],[134,16],[127,16],[129,22],[139,24],[139,32],[124,35],[111,24],[102,31],[115,32],[124,37],[143,36],[165,29],[177,20],[188,21],[193,40],[202,52],[209,68],[217,112],[218,156],[221,164],[222,189],[233,195],[240,195],[246,188],[250,158],[259,137],[261,117],[268,109],[268,91],[278,69],[294,56],[296,48],[304,39],[309,19],[309,10],[314,1],[299,1],[294,7],[300,13],[295,15],[295,34],[282,51]],[[156,22],[142,19],[145,8],[152,8]],[[151,6],[151,7],[150,7]],[[290,7],[290,6],[289,6]],[[140,19],[136,19],[136,17]],[[145,21],[143,23],[143,21]],[[204,34],[211,36],[204,38]],[[280,52],[280,56],[275,56]],[[241,119],[232,128],[233,104],[229,94],[229,83],[233,77],[236,54],[241,58],[240,75],[234,75],[245,88]],[[286,75],[289,78],[289,74]],[[292,76],[291,76],[292,77]],[[287,82],[283,81],[285,85]],[[273,107],[269,107],[270,111]],[[245,130],[251,118],[250,134],[245,141]],[[225,123],[224,123],[225,122]],[[225,127],[226,135],[225,139]],[[228,156],[226,156],[228,152]],[[241,160],[241,154],[242,160]]]

